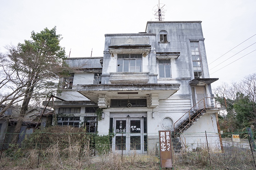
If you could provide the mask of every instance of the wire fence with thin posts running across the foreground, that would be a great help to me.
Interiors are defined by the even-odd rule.
[[[63,169],[69,169],[69,166],[70,169],[86,169],[86,166],[93,165],[108,165],[109,168],[106,169],[111,169],[112,166],[122,169],[128,163],[139,163],[141,167],[150,165],[152,169],[159,167],[158,134],[88,134],[81,128],[68,127],[61,131],[62,128],[55,126],[52,130],[19,134],[23,141],[16,143],[10,142],[15,134],[6,133],[0,143],[3,148],[0,162],[5,165],[6,161],[11,160],[19,162],[20,165],[26,163],[26,167],[50,166]],[[234,140],[233,135],[239,135],[239,140]],[[183,133],[176,136],[176,139],[172,139],[175,151],[173,165],[217,169],[256,167],[255,148],[252,145],[251,150],[246,131],[222,133],[222,141],[218,136],[219,134],[211,132]],[[179,149],[175,150],[177,146]]]

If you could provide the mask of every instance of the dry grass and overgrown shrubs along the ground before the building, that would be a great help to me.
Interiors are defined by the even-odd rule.
[[[26,136],[21,144],[3,151],[0,168],[5,169],[83,169],[83,170],[156,170],[159,157],[154,153],[128,155],[113,153],[111,136],[87,134],[82,128],[53,126]],[[225,153],[207,148],[195,152],[173,153],[176,170],[255,169],[252,153],[239,147],[225,147]],[[94,156],[96,152],[97,156]],[[255,153],[255,152],[254,152]],[[255,154],[256,155],[256,154]]]

